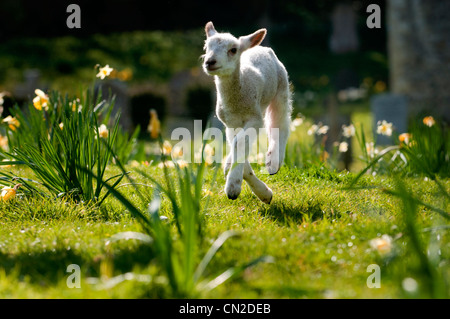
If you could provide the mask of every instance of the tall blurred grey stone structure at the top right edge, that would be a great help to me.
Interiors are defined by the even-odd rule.
[[[387,1],[390,89],[450,122],[450,1]]]

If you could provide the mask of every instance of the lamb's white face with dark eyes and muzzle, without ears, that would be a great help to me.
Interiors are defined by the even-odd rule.
[[[234,72],[241,56],[239,40],[229,33],[217,33],[205,42],[203,70],[206,74],[226,76]]]

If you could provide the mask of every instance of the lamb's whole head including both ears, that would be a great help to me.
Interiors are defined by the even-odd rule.
[[[239,66],[242,52],[259,45],[266,36],[266,29],[235,38],[229,33],[219,33],[212,22],[205,26],[206,41],[203,70],[206,74],[227,76]]]

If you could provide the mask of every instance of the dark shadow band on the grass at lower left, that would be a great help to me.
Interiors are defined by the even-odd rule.
[[[132,248],[122,248],[112,252],[114,275],[126,273],[136,266],[146,266],[154,254],[146,244],[132,245]],[[99,277],[100,264],[106,257],[101,254],[90,257],[73,250],[58,248],[47,251],[28,251],[19,254],[5,254],[0,252],[0,268],[6,274],[16,274],[19,278],[27,278],[31,283],[41,285],[56,284],[67,278],[72,272],[67,272],[67,266],[80,266],[82,277]]]

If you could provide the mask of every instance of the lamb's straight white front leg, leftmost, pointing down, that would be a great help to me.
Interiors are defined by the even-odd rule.
[[[231,150],[225,163],[227,181],[225,193],[229,199],[238,198],[241,193],[244,177],[244,164],[247,161],[253,143],[257,139],[258,128],[262,125],[262,119],[249,120],[237,134],[230,133],[233,129],[227,128],[227,140],[231,140]],[[234,135],[234,137],[232,137]]]

